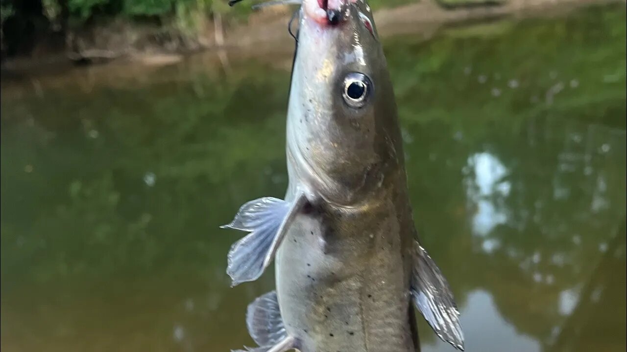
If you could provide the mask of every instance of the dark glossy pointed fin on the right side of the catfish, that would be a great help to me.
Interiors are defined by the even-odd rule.
[[[411,295],[416,308],[443,341],[464,349],[460,312],[445,277],[423,247],[414,242]]]

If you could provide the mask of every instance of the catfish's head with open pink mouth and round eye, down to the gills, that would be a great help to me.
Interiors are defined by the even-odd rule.
[[[322,197],[351,206],[403,168],[386,58],[364,0],[304,0],[288,108],[288,158]]]

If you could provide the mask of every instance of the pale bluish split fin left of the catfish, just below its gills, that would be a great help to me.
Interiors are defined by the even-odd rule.
[[[293,202],[265,197],[251,200],[241,206],[231,224],[222,228],[248,231],[231,246],[226,272],[233,286],[246,281],[255,281],[270,265],[278,246],[285,237],[295,215],[307,202],[299,194]]]

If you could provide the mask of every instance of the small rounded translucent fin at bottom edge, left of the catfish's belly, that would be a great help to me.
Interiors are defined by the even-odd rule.
[[[296,347],[296,339],[285,331],[276,291],[270,291],[248,305],[246,325],[251,338],[260,346],[246,347],[248,351],[285,352]]]

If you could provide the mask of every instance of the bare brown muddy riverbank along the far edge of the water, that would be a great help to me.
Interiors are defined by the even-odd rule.
[[[515,16],[546,16],[571,11],[590,4],[625,3],[625,0],[508,0],[505,3],[466,4],[445,6],[436,0],[381,9],[376,12],[377,29],[381,36],[417,34],[430,38],[441,26],[485,21]],[[214,16],[211,25],[193,41],[182,38],[154,37],[154,28],[130,26],[114,22],[95,27],[85,33],[71,34],[73,50],[65,48],[40,49],[31,56],[4,60],[4,73],[25,71],[66,70],[77,64],[122,61],[148,66],[161,66],[181,60],[185,55],[199,51],[215,51],[219,63],[229,65],[229,53],[238,56],[267,56],[280,51],[292,51],[287,22],[293,8],[278,6],[251,14],[246,23],[223,24],[221,16]]]

